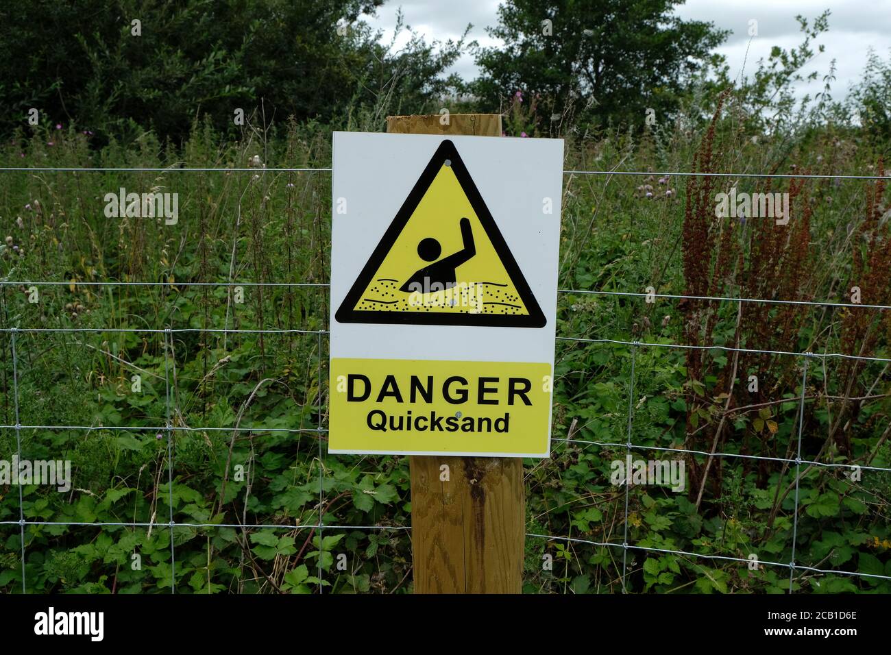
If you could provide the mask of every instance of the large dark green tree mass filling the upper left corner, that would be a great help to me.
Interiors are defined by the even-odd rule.
[[[361,20],[382,3],[0,4],[0,134],[26,126],[31,108],[41,125],[74,124],[94,131],[96,141],[153,128],[175,142],[199,116],[234,130],[233,111],[249,114],[261,101],[266,120],[277,122],[294,116],[337,123],[379,105],[381,93],[405,111],[420,111],[460,84],[445,71],[462,43],[437,47],[414,37],[392,52]]]

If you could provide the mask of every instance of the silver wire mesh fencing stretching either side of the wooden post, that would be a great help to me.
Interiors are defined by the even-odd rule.
[[[252,173],[257,173],[255,168],[0,168],[0,171],[11,171],[11,172],[21,172],[21,171],[35,171],[35,170],[45,170],[45,171],[57,171],[57,172],[65,172],[65,171],[78,171],[78,172],[93,172],[93,171],[158,171],[158,172],[219,172],[219,171],[249,171]],[[330,171],[330,168],[268,168],[266,172],[326,172]],[[260,171],[264,172],[264,171]],[[593,176],[613,176],[613,175],[628,175],[628,176],[645,176],[650,175],[650,173],[641,172],[641,171],[585,171],[585,170],[570,170],[564,171],[566,175],[576,176],[576,175],[593,175]],[[686,175],[712,175],[712,176],[734,176],[734,174],[700,174],[700,173],[682,173],[682,172],[673,172],[670,175],[672,176],[686,176]],[[741,175],[747,176],[747,175]],[[764,177],[783,177],[780,175],[773,174],[748,174],[748,176],[764,176]],[[803,178],[803,177],[813,177],[813,178],[850,178],[850,179],[887,179],[886,177],[880,176],[786,176],[786,177],[794,177],[794,178]],[[77,282],[66,282],[60,280],[0,280],[0,287],[37,287],[37,289],[44,287],[66,287],[71,285],[72,283],[77,286],[83,287],[96,287],[96,288],[110,288],[110,287],[136,287],[136,288],[161,288],[162,290],[171,290],[175,288],[183,288],[183,287],[208,287],[208,288],[225,288],[227,292],[231,291],[235,287],[257,287],[257,288],[283,288],[283,289],[307,289],[311,291],[318,292],[320,294],[326,294],[328,289],[328,284],[325,282],[234,282],[232,280],[221,281],[221,282],[189,282],[189,281],[177,281],[177,282],[159,282],[159,281],[145,281],[145,282],[127,282],[127,281],[77,281]],[[880,305],[880,304],[860,304],[860,303],[846,303],[846,302],[832,302],[829,300],[800,300],[800,299],[759,299],[759,298],[744,298],[744,297],[731,297],[731,296],[699,296],[699,295],[682,295],[682,294],[661,294],[653,292],[641,292],[641,291],[612,291],[612,290],[596,290],[596,289],[560,289],[560,294],[572,294],[572,295],[591,295],[591,296],[603,296],[603,297],[612,297],[617,299],[637,299],[640,300],[642,298],[646,299],[647,302],[652,302],[655,299],[666,299],[666,300],[680,300],[680,301],[696,301],[701,303],[714,303],[715,305],[720,304],[736,304],[738,307],[741,307],[745,304],[765,304],[772,306],[787,306],[787,307],[825,307],[830,310],[833,309],[844,309],[846,311],[879,311],[885,312],[891,309],[891,306]],[[327,320],[327,316],[323,317],[322,323]],[[227,323],[228,323],[228,315],[227,315]],[[138,335],[151,335],[152,339],[159,339],[161,341],[161,349],[163,351],[163,387],[164,387],[164,422],[163,424],[150,424],[150,425],[77,425],[77,424],[69,424],[65,422],[60,422],[59,424],[35,424],[32,422],[22,422],[20,416],[20,362],[23,353],[28,351],[28,348],[24,348],[22,345],[22,338],[31,335],[39,335],[41,333],[59,333],[59,334],[81,334],[81,333],[94,333],[94,334],[105,334],[105,333],[131,333]],[[150,529],[164,529],[167,528],[170,531],[170,591],[171,593],[176,592],[176,545],[174,532],[177,528],[232,528],[241,530],[242,533],[246,530],[258,530],[258,529],[270,529],[270,530],[308,530],[311,531],[310,535],[317,535],[321,540],[323,534],[332,531],[344,531],[344,530],[387,530],[394,531],[397,533],[410,533],[411,528],[409,526],[393,526],[393,525],[347,525],[347,524],[339,524],[339,523],[328,523],[325,522],[325,479],[324,479],[324,452],[323,452],[323,442],[324,435],[327,430],[324,427],[324,416],[326,413],[323,411],[324,398],[325,398],[325,385],[326,378],[323,375],[324,369],[324,361],[325,356],[323,355],[326,351],[327,345],[327,337],[326,335],[329,333],[327,330],[319,329],[319,330],[308,330],[308,329],[282,329],[282,328],[238,328],[238,327],[230,327],[226,324],[224,327],[174,327],[172,323],[166,324],[163,328],[127,328],[127,327],[100,327],[100,328],[88,328],[88,327],[3,327],[0,328],[0,333],[6,333],[9,338],[10,345],[10,358],[12,363],[12,405],[13,405],[13,417],[14,422],[11,424],[0,425],[0,429],[3,430],[12,430],[15,435],[15,443],[16,443],[16,456],[19,462],[23,459],[22,452],[22,434],[25,430],[126,430],[126,431],[143,431],[148,434],[156,434],[159,438],[163,438],[166,440],[166,460],[167,460],[167,495],[168,495],[168,516],[167,521],[155,520],[152,518],[151,521],[52,521],[52,520],[36,520],[33,517],[26,518],[25,515],[25,504],[23,499],[23,491],[22,486],[19,485],[18,495],[19,495],[19,518],[18,520],[0,520],[0,525],[10,526],[10,527],[18,527],[19,528],[19,536],[20,536],[20,570],[21,570],[21,589],[23,593],[27,593],[29,591],[27,576],[26,576],[26,528],[30,526],[39,527],[52,527],[52,526],[71,526],[71,527],[94,527],[94,528],[150,528]],[[317,367],[316,367],[316,397],[315,397],[315,405],[317,405],[317,420],[315,427],[307,427],[307,428],[284,428],[284,427],[276,427],[276,426],[263,426],[263,425],[241,425],[240,422],[235,422],[232,426],[227,427],[190,427],[184,425],[182,422],[177,420],[177,417],[181,415],[180,408],[177,406],[177,375],[176,375],[176,355],[174,352],[175,344],[174,340],[177,335],[206,335],[206,334],[217,334],[217,335],[238,335],[238,334],[268,334],[268,335],[299,335],[301,338],[306,338],[307,340],[315,340],[315,350],[317,356]],[[637,338],[633,339],[594,339],[594,338],[584,338],[584,337],[576,337],[571,335],[559,335],[557,337],[558,341],[565,342],[571,345],[574,345],[578,348],[597,348],[600,346],[609,346],[616,345],[629,348],[630,351],[630,373],[627,376],[627,379],[624,381],[626,389],[627,389],[627,420],[625,424],[625,440],[622,441],[620,439],[613,439],[609,441],[603,440],[586,440],[581,438],[575,438],[574,434],[570,430],[570,434],[567,437],[558,437],[556,435],[552,436],[552,440],[558,443],[565,443],[571,445],[578,446],[594,446],[596,448],[617,448],[624,449],[627,457],[627,461],[630,463],[632,460],[632,456],[634,452],[643,452],[643,451],[654,451],[659,452],[666,455],[689,455],[691,457],[701,457],[705,458],[707,462],[707,467],[712,465],[713,461],[748,461],[755,463],[774,463],[782,465],[783,467],[789,467],[789,470],[794,470],[794,495],[793,498],[793,508],[792,508],[792,531],[791,531],[791,557],[788,562],[783,561],[770,561],[764,560],[761,558],[757,558],[756,563],[762,566],[774,567],[777,569],[786,569],[789,573],[789,593],[793,591],[793,584],[795,581],[795,577],[797,573],[805,574],[831,574],[831,575],[840,575],[840,576],[848,576],[848,577],[862,577],[862,578],[875,578],[882,580],[891,580],[891,576],[881,575],[878,573],[867,573],[861,570],[844,570],[844,569],[823,569],[818,566],[810,566],[807,564],[803,564],[801,562],[796,561],[796,550],[798,543],[798,520],[799,520],[799,512],[802,511],[801,499],[799,497],[799,481],[803,479],[803,477],[807,474],[808,471],[818,471],[821,469],[831,470],[841,470],[841,471],[877,471],[877,472],[891,472],[891,468],[881,467],[881,466],[871,466],[869,464],[854,464],[854,463],[838,463],[838,462],[825,462],[822,461],[821,457],[818,455],[814,458],[808,458],[805,454],[803,456],[802,453],[802,441],[803,441],[803,428],[805,422],[805,403],[808,398],[806,395],[806,389],[809,382],[809,376],[812,374],[811,369],[813,365],[816,363],[825,364],[831,360],[847,360],[854,362],[874,362],[881,364],[891,364],[891,358],[881,357],[881,356],[867,356],[861,354],[854,353],[844,353],[844,352],[798,352],[795,350],[780,350],[780,349],[771,349],[771,348],[740,348],[738,346],[726,345],[726,344],[692,344],[692,343],[675,343],[668,342],[667,340],[640,340]],[[781,402],[785,404],[794,403],[797,405],[797,420],[795,421],[795,430],[796,433],[794,437],[791,438],[790,444],[794,444],[794,456],[792,454],[787,454],[785,456],[765,456],[760,454],[750,454],[750,453],[742,453],[742,452],[726,452],[723,449],[719,449],[717,446],[717,442],[715,442],[715,447],[712,447],[708,450],[701,450],[695,448],[689,448],[685,446],[658,446],[653,444],[645,444],[645,443],[635,443],[635,423],[634,423],[634,415],[635,410],[637,409],[636,403],[638,399],[635,397],[635,390],[638,389],[638,376],[640,375],[640,367],[638,357],[642,351],[650,351],[650,350],[658,350],[658,349],[671,349],[680,352],[689,352],[689,351],[699,351],[703,353],[715,354],[715,353],[731,353],[731,354],[747,354],[753,356],[781,356],[781,357],[792,357],[796,358],[800,361],[800,389],[797,390],[797,399],[789,399],[782,398]],[[240,417],[239,417],[240,418]],[[298,522],[298,523],[247,523],[244,521],[238,522],[208,522],[208,521],[189,521],[189,520],[176,520],[175,512],[174,512],[174,503],[172,499],[175,495],[174,490],[174,479],[175,479],[175,460],[176,460],[176,435],[190,434],[194,432],[201,431],[221,431],[221,432],[232,432],[233,435],[238,432],[245,433],[258,433],[258,432],[281,432],[284,434],[296,434],[296,435],[314,435],[316,441],[316,457],[318,459],[318,505],[317,510],[315,512],[316,520],[312,522]],[[706,468],[706,476],[708,469]],[[784,469],[785,471],[785,469]],[[703,487],[705,485],[705,481],[703,481]],[[621,577],[620,584],[623,592],[628,591],[627,577],[629,576],[629,552],[631,553],[654,553],[654,554],[673,554],[688,558],[694,558],[698,560],[711,560],[711,561],[726,561],[726,562],[738,562],[743,565],[751,564],[751,560],[747,558],[735,557],[731,555],[723,555],[723,554],[709,554],[709,553],[694,553],[686,550],[679,550],[673,548],[661,548],[653,545],[644,545],[644,544],[633,544],[629,543],[629,520],[631,519],[630,512],[630,500],[631,500],[631,490],[633,484],[631,483],[631,471],[625,471],[625,480],[622,484],[624,486],[624,512],[623,512],[623,525],[622,525],[622,538],[621,541],[594,541],[591,539],[584,539],[576,536],[568,536],[568,535],[548,535],[541,534],[535,531],[527,532],[527,537],[533,539],[544,539],[549,542],[564,542],[568,544],[587,544],[597,547],[604,547],[608,549],[615,549],[617,552],[622,553],[622,563],[621,563]],[[701,496],[700,490],[700,496]],[[322,558],[318,559],[318,579],[321,581],[323,579],[323,568],[322,568]],[[323,593],[323,585],[320,583],[318,585],[318,592]]]

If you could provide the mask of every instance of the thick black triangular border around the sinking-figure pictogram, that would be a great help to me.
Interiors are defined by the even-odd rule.
[[[491,137],[489,137],[491,138]],[[509,315],[509,314],[444,314],[441,312],[370,312],[364,310],[355,310],[356,303],[371,282],[372,276],[377,273],[380,264],[387,257],[389,250],[396,242],[396,238],[405,229],[405,224],[412,217],[414,210],[417,208],[424,194],[427,192],[429,185],[433,183],[439,169],[442,168],[445,160],[451,160],[451,168],[458,183],[461,184],[462,190],[470,200],[470,206],[477,213],[479,222],[483,225],[489,241],[495,248],[495,253],[501,258],[502,264],[511,277],[514,288],[519,293],[519,298],[529,312],[528,315]],[[495,219],[489,213],[486,202],[479,194],[477,185],[473,183],[467,167],[457,149],[449,139],[444,139],[439,144],[437,151],[430,158],[427,168],[424,168],[421,177],[414,184],[412,192],[403,202],[402,207],[396,213],[396,217],[390,223],[387,231],[380,237],[377,247],[372,252],[372,256],[368,259],[362,271],[356,277],[353,287],[347,292],[346,298],[340,303],[340,307],[334,314],[334,318],[338,323],[401,323],[408,325],[470,325],[485,327],[526,327],[526,328],[542,328],[547,323],[535,295],[529,289],[526,277],[517,266],[517,261],[511,254],[507,242],[504,241]]]

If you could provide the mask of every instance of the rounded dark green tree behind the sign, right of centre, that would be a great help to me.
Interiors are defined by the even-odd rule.
[[[490,108],[516,91],[539,94],[545,120],[643,125],[664,121],[686,81],[728,32],[672,14],[683,0],[507,0],[479,48],[474,85]]]

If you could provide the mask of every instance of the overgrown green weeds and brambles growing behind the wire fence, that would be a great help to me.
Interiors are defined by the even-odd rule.
[[[803,27],[808,39],[821,29]],[[612,485],[610,473],[614,460],[625,459],[633,353],[623,344],[584,340],[891,357],[891,312],[647,303],[582,292],[642,293],[651,286],[660,294],[847,302],[857,286],[863,304],[891,305],[888,193],[880,181],[839,177],[884,174],[888,65],[874,59],[849,102],[832,100],[827,78],[821,95],[801,105],[790,88],[807,77],[801,70],[809,52],[806,44],[794,53],[777,50],[737,86],[720,75],[691,79],[671,121],[660,116],[655,126],[636,130],[568,124],[560,132],[567,170],[652,175],[564,178],[560,289],[576,291],[560,293],[557,329],[572,340],[556,345],[553,437],[561,440],[550,459],[526,466],[527,532],[581,541],[528,537],[528,593],[621,590],[622,549],[584,542],[624,540],[625,487]],[[21,430],[24,458],[71,461],[69,491],[0,485],[0,520],[19,520],[21,490],[24,516],[46,522],[25,528],[29,592],[163,593],[171,577],[178,593],[196,594],[412,590],[411,533],[385,529],[411,522],[407,459],[325,452],[330,174],[262,168],[329,167],[332,127],[380,131],[383,117],[397,109],[421,111],[421,99],[399,108],[408,92],[388,93],[386,84],[367,102],[360,93],[366,83],[352,78],[347,105],[330,119],[315,120],[307,110],[273,120],[268,105],[264,119],[257,102],[249,105],[256,109],[248,125],[233,135],[218,122],[229,120],[227,105],[218,117],[190,118],[183,142],[174,144],[150,128],[160,119],[120,130],[112,112],[100,143],[84,134],[98,123],[62,121],[56,129],[42,121],[0,146],[4,167],[260,162],[248,172],[0,172],[0,279],[21,282],[0,291],[0,327],[95,330],[17,332],[15,385],[13,336],[0,333],[0,422],[16,422],[16,386],[21,424],[90,428]],[[535,95],[516,90],[509,90],[505,132],[549,135]],[[195,106],[186,113],[193,117]],[[682,178],[665,171],[830,177]],[[121,186],[177,192],[176,225],[106,218],[104,196]],[[740,193],[789,192],[789,225],[715,217],[715,194],[733,186]],[[82,283],[110,280],[158,284]],[[66,283],[35,284],[39,301],[31,303],[29,287],[39,281]],[[239,290],[238,282],[307,286],[246,283]],[[189,332],[166,335],[166,327]],[[294,332],[225,332],[233,328]],[[161,332],[139,332],[145,330]],[[801,389],[803,364],[782,355],[636,348],[632,440],[653,450],[632,454],[683,460],[688,477],[681,493],[630,488],[628,543],[791,561],[796,466],[771,458],[794,459],[800,430],[803,460],[842,466],[801,465],[795,561],[891,575],[891,475],[864,469],[855,479],[847,468],[891,466],[891,366],[815,357]],[[749,390],[751,375],[756,391]],[[594,441],[616,446],[585,443]],[[709,463],[706,454],[666,452],[672,448],[764,459]],[[0,429],[0,459],[16,452],[15,430]],[[312,527],[320,512],[331,526],[321,533]],[[171,529],[164,525],[171,516],[213,527]],[[92,522],[146,525],[78,525]],[[217,527],[240,523],[291,527]],[[20,593],[20,547],[20,528],[0,526],[4,593]],[[141,569],[133,569],[134,554]],[[543,569],[545,554],[552,570]],[[346,571],[337,567],[339,555]],[[629,551],[627,583],[634,593],[782,593],[789,569]],[[877,578],[802,570],[794,588],[891,591]]]

